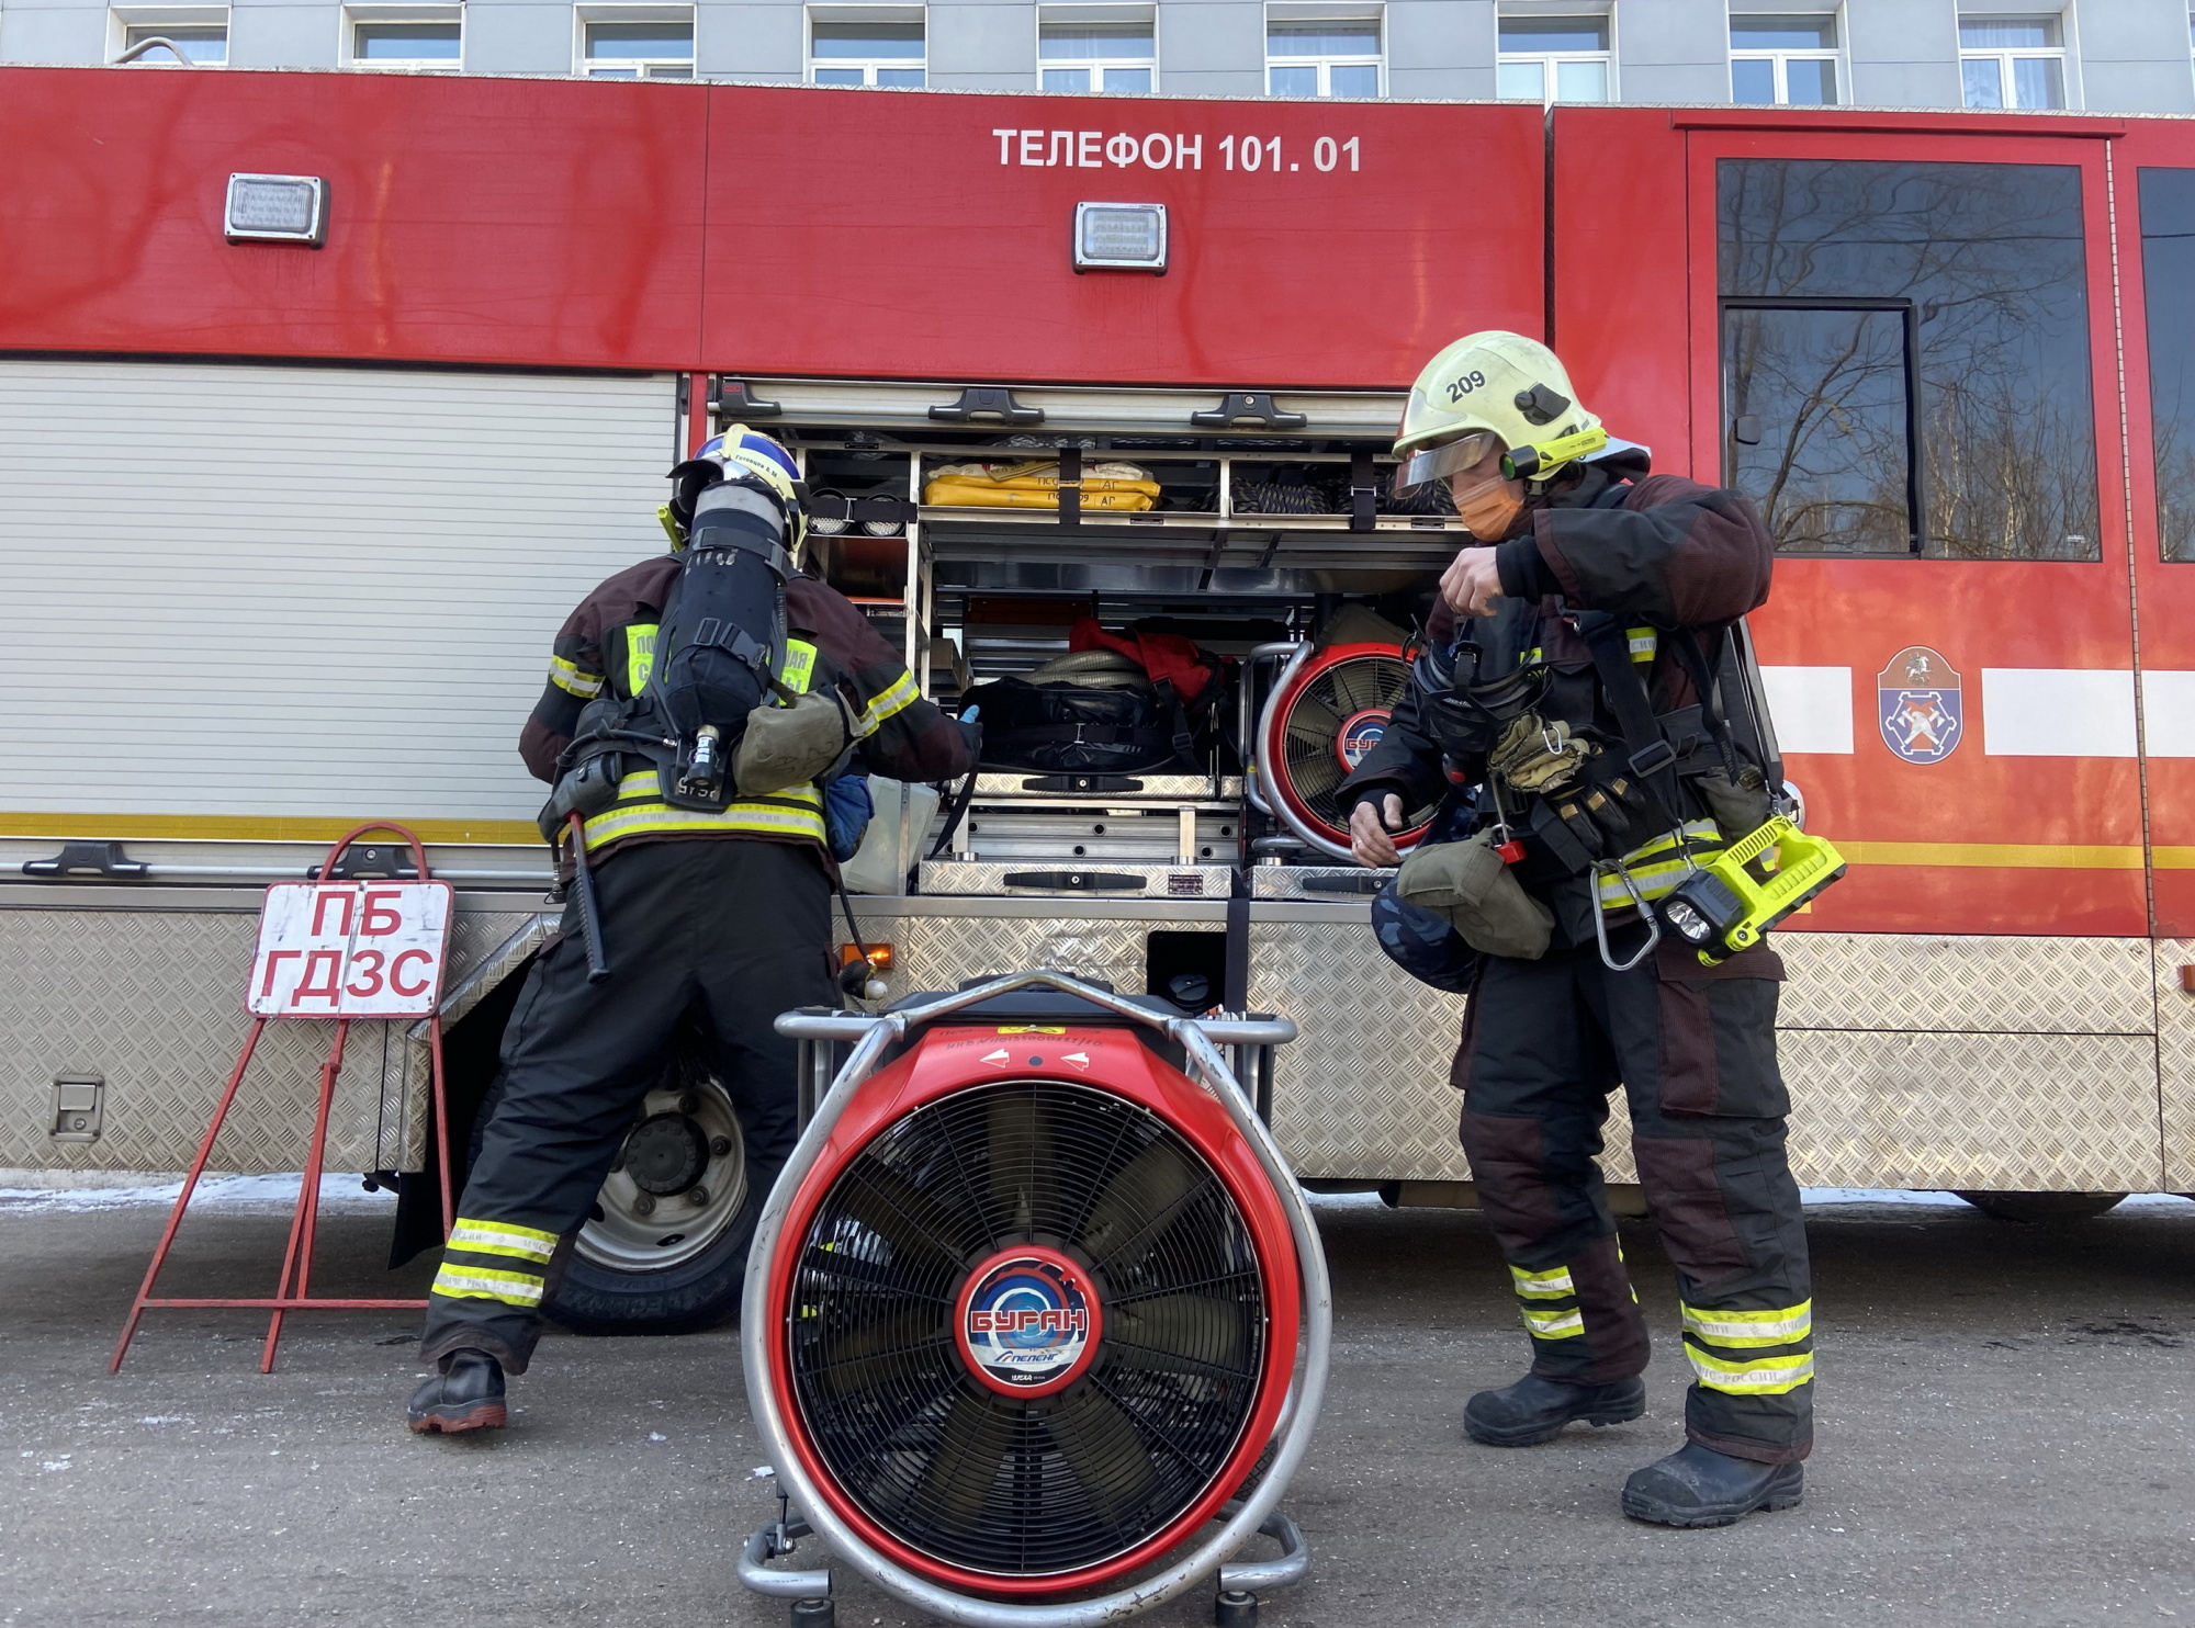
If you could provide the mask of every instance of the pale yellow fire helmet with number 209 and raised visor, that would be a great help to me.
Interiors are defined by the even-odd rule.
[[[1512,481],[1545,481],[1609,448],[1609,432],[1578,404],[1556,353],[1504,329],[1455,340],[1409,386],[1394,441],[1403,459],[1394,491],[1407,498],[1495,448]]]

